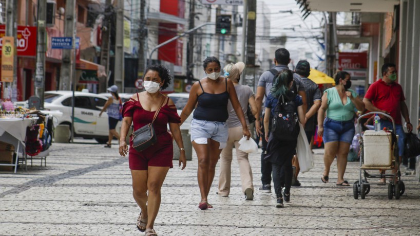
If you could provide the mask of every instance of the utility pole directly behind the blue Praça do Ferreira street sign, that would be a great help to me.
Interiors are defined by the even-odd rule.
[[[75,0],[66,0],[66,12],[64,14],[64,37],[71,37],[73,44],[76,34],[75,6]],[[60,90],[71,90],[72,88],[70,85],[75,87],[75,84],[72,84],[73,77],[75,76],[73,70],[73,55],[74,53],[72,53],[72,50],[63,50],[63,62],[60,70]]]

